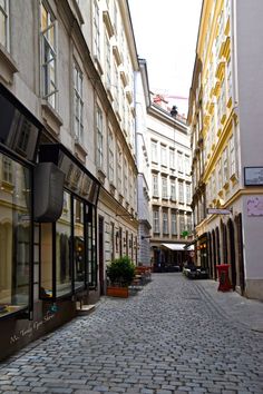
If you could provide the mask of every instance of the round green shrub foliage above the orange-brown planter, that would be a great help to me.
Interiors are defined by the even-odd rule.
[[[127,287],[135,276],[135,265],[128,256],[114,259],[107,265],[107,276],[114,286]]]

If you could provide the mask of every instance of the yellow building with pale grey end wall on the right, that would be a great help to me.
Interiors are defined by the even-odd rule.
[[[233,289],[259,299],[262,11],[261,1],[203,1],[188,112],[197,258],[213,278],[230,264]]]

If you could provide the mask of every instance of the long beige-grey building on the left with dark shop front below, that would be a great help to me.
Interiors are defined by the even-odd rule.
[[[137,262],[138,62],[126,1],[4,0],[0,13],[4,357],[98,299],[111,258]]]

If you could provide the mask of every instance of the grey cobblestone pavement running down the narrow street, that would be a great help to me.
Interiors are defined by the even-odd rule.
[[[263,393],[263,333],[202,282],[155,274],[0,364],[0,393]]]

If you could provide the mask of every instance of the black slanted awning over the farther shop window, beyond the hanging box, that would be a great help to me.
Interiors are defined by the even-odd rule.
[[[40,145],[39,161],[53,162],[65,174],[66,188],[97,205],[100,183],[64,145]]]

